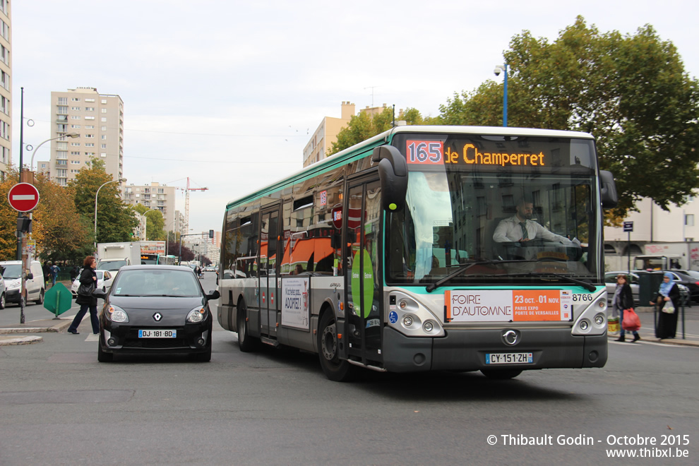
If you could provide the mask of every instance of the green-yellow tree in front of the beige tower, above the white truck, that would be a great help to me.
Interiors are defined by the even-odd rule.
[[[99,189],[97,241],[100,243],[131,241],[133,229],[138,225],[138,220],[133,216],[129,206],[121,201],[118,184],[107,183],[107,181],[113,181],[112,175],[104,171],[102,160],[93,158],[90,168],[81,169],[76,178],[68,182],[68,189],[73,191],[78,213],[92,219],[92,222],[95,218],[95,194]],[[100,186],[102,186],[101,189]]]

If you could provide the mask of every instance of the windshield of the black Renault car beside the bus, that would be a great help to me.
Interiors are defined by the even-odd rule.
[[[114,286],[116,296],[201,296],[201,285],[186,270],[122,270]]]

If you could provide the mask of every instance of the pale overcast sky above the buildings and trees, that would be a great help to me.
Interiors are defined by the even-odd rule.
[[[498,79],[513,35],[554,40],[582,15],[602,32],[651,24],[699,74],[699,3],[686,1],[13,1],[13,163],[51,137],[51,92],[124,100],[124,177],[190,193],[190,227],[220,229],[228,201],[301,169],[309,137],[349,100],[436,116]],[[502,79],[500,76],[499,79]],[[373,93],[373,95],[372,95]],[[26,152],[25,152],[26,154]],[[49,159],[49,144],[37,160]],[[177,191],[184,212],[184,191]]]

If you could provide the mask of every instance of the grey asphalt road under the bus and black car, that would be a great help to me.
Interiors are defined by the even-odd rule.
[[[212,284],[210,274],[205,289]],[[100,364],[87,319],[83,328],[0,347],[0,464],[695,465],[699,458],[697,347],[610,342],[603,369],[532,371],[513,381],[367,373],[334,383],[315,355],[241,353],[236,335],[217,324],[210,363]],[[532,441],[545,444],[522,445]],[[609,445],[619,441],[634,444]],[[610,459],[608,450],[655,457]]]

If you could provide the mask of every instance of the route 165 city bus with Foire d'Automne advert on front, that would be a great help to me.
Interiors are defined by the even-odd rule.
[[[551,234],[495,241],[523,198]],[[590,134],[396,126],[227,204],[217,319],[333,381],[602,367],[616,203]]]

